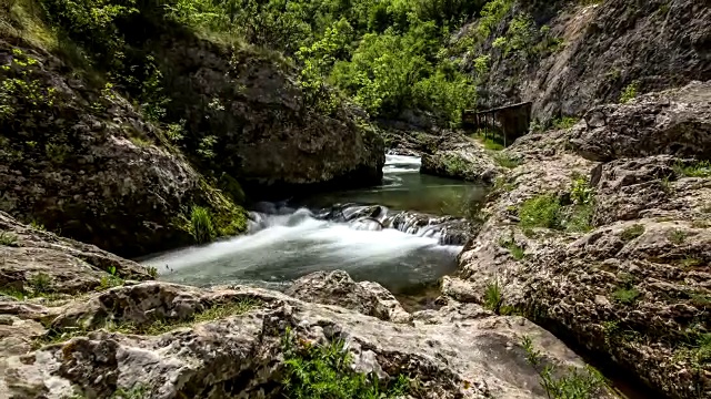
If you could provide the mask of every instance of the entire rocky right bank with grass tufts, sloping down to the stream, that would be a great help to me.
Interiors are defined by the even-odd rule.
[[[504,150],[444,295],[519,313],[673,398],[711,397],[711,85],[592,109]]]

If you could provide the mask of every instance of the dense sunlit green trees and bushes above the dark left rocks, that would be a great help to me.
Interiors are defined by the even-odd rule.
[[[164,113],[161,103],[168,101],[160,93],[162,76],[154,60],[127,45],[136,38],[123,32],[131,24],[160,19],[283,52],[302,70],[307,101],[327,114],[343,98],[349,98],[373,115],[395,116],[403,110],[419,109],[457,122],[461,111],[474,103],[474,84],[440,49],[449,40],[451,29],[479,13],[487,1],[41,0],[41,3],[48,19],[82,47],[81,63],[108,71],[114,83],[146,104],[158,120]],[[327,84],[336,90],[327,89]]]

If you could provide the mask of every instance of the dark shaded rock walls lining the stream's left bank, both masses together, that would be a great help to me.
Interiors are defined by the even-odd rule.
[[[139,21],[116,71],[0,27],[0,211],[139,256],[194,243],[194,206],[216,236],[243,232],[238,182],[253,196],[380,182],[382,139],[358,110],[313,111],[283,58]]]

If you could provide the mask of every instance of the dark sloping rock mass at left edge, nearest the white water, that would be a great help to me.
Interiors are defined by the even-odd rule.
[[[27,71],[20,63],[29,58]],[[0,211],[123,256],[193,243],[176,221],[212,201],[129,101],[69,78],[61,60],[32,48],[0,40],[0,63],[11,65],[2,79],[26,72],[54,93],[36,104],[20,99],[0,120]]]

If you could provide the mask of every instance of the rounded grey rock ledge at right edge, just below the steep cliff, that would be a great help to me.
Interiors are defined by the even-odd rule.
[[[711,82],[597,106],[585,121],[570,142],[591,161],[660,154],[711,158]]]

